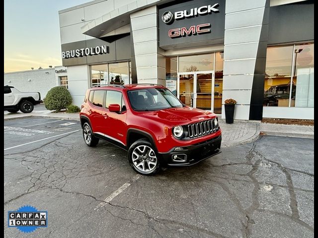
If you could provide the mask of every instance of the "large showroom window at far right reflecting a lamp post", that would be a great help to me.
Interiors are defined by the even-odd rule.
[[[314,44],[267,48],[264,106],[314,107]]]

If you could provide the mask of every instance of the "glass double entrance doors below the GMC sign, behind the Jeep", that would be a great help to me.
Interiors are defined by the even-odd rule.
[[[177,95],[182,103],[213,111],[214,71],[181,72],[177,80]]]

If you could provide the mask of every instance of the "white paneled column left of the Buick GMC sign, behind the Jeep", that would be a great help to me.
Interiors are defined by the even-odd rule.
[[[158,47],[157,6],[130,15],[138,83],[165,85],[165,57]]]

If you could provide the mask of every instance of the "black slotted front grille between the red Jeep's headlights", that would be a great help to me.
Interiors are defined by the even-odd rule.
[[[220,127],[219,127],[219,123],[217,123],[217,126],[215,126],[214,120],[217,120],[217,119],[215,118],[211,120],[205,120],[205,121],[189,124],[187,126],[187,129],[188,129],[187,137],[197,138],[197,137],[201,137],[201,136],[216,132],[217,130],[219,130]]]

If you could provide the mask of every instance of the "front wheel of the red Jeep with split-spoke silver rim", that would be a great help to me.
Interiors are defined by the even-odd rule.
[[[128,150],[130,166],[139,174],[154,175],[160,170],[156,148],[146,139],[135,141]]]

